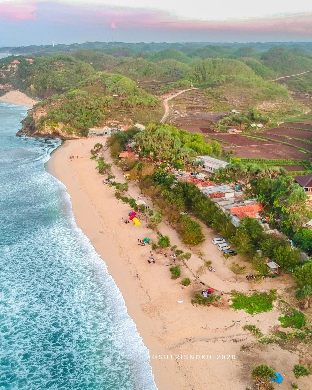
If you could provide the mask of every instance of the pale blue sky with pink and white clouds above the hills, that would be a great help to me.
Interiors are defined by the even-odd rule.
[[[112,39],[131,43],[312,41],[308,0],[148,4],[146,0],[0,0],[0,46]]]

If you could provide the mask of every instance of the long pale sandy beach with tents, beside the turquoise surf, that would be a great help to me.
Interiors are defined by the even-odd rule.
[[[154,254],[156,264],[148,264],[151,248],[138,246],[138,239],[149,237],[156,241],[156,233],[147,229],[144,220],[138,227],[132,222],[121,223],[121,218],[125,219],[131,209],[115,198],[113,188],[102,183],[106,176],[99,175],[95,169],[96,162],[90,160],[90,149],[96,142],[104,144],[105,137],[65,141],[53,152],[47,169],[66,186],[78,227],[106,262],[108,271],[121,290],[128,313],[150,351],[152,372],[158,388],[242,390],[252,385],[250,372],[254,363],[274,367],[285,377],[285,386],[283,382],[281,388],[289,388],[294,379],[292,367],[300,360],[300,347],[292,352],[278,345],[241,349],[242,344],[256,343],[252,335],[242,329],[244,324],[255,324],[263,333],[273,332],[280,327],[280,312],[274,308],[271,312],[250,316],[245,311],[229,308],[230,291],[250,291],[251,286],[245,275],[236,277],[229,270],[222,254],[211,243],[211,238],[218,234],[206,226],[206,241],[192,251],[188,268],[181,267],[181,278],[170,278],[170,256],[166,258],[163,254]],[[73,155],[74,160],[70,160],[69,156]],[[108,151],[105,158],[111,161]],[[124,181],[117,167],[113,166],[112,171],[115,181]],[[138,188],[129,186],[129,196],[137,198],[139,194]],[[148,202],[146,198],[142,199]],[[152,206],[151,202],[148,204]],[[165,222],[160,224],[159,229],[162,234],[170,236],[171,245],[177,245],[184,252],[189,251],[179,240],[176,230]],[[206,254],[205,259],[211,260],[216,269],[216,272],[207,271],[200,279],[218,294],[223,294],[218,307],[191,305],[191,298],[201,288],[193,276],[197,267],[203,264],[196,255],[199,250]],[[166,253],[170,255],[170,248]],[[241,259],[235,261],[250,269],[250,265]],[[181,285],[185,277],[192,280],[189,287]],[[277,288],[279,292],[284,292],[291,285],[291,280],[283,278],[264,280],[254,288],[260,291]],[[300,383],[303,388],[308,388],[308,379],[300,378]]]

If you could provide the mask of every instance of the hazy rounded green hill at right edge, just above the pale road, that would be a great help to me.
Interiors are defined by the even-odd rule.
[[[273,49],[263,53],[261,59],[278,76],[312,70],[312,59],[299,50]]]

